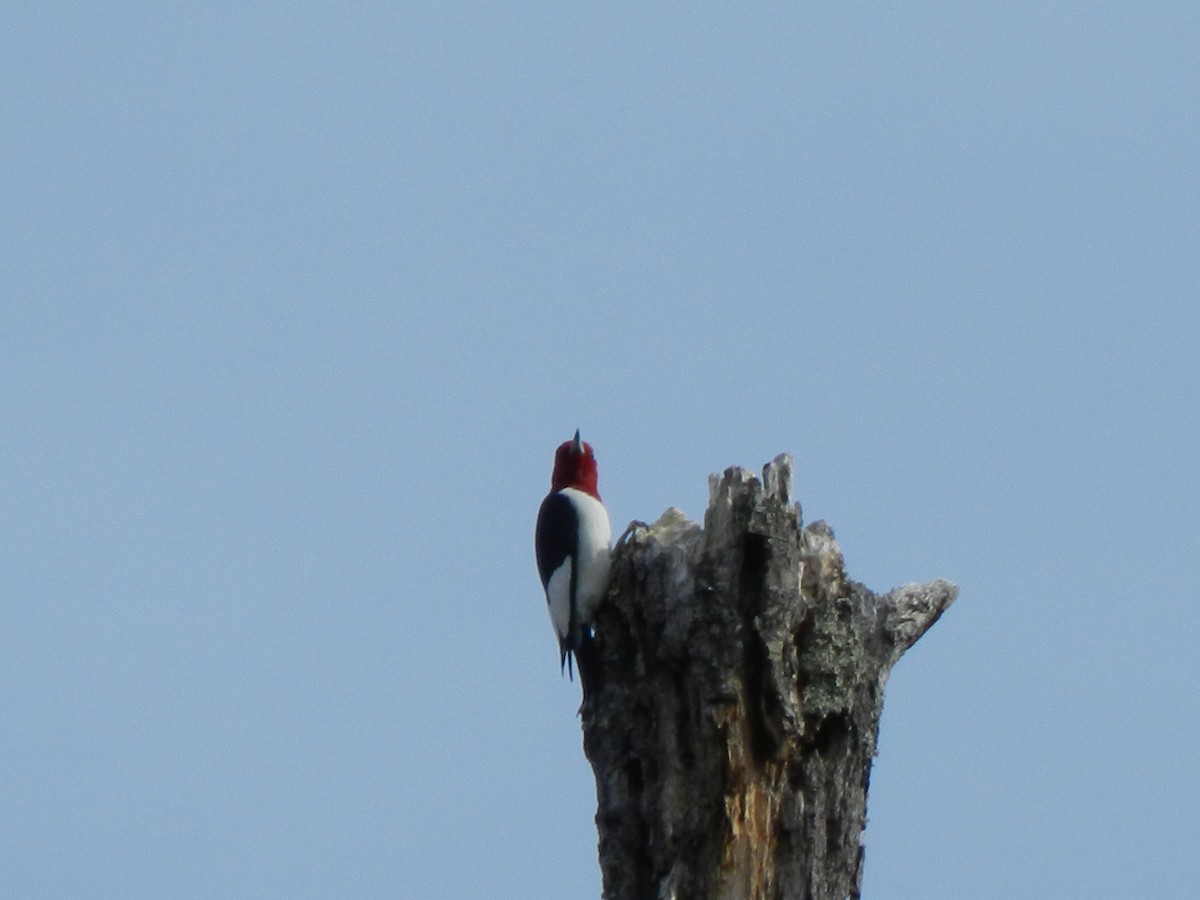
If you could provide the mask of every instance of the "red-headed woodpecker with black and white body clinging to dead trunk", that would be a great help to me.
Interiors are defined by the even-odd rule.
[[[534,541],[550,622],[558,635],[559,666],[572,680],[572,654],[580,659],[580,676],[586,674],[580,649],[590,638],[592,618],[608,588],[611,536],[608,512],[596,491],[596,457],[576,430],[554,451],[554,473],[538,510]]]

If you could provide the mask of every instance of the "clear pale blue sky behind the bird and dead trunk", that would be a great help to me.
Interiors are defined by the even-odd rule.
[[[0,894],[594,898],[533,562],[796,456],[865,894],[1200,883],[1200,5],[16,2]]]

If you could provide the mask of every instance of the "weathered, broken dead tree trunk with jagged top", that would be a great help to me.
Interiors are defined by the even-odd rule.
[[[618,541],[581,710],[607,900],[859,896],[883,685],[958,588],[850,581],[791,482],[727,469],[703,529]]]

